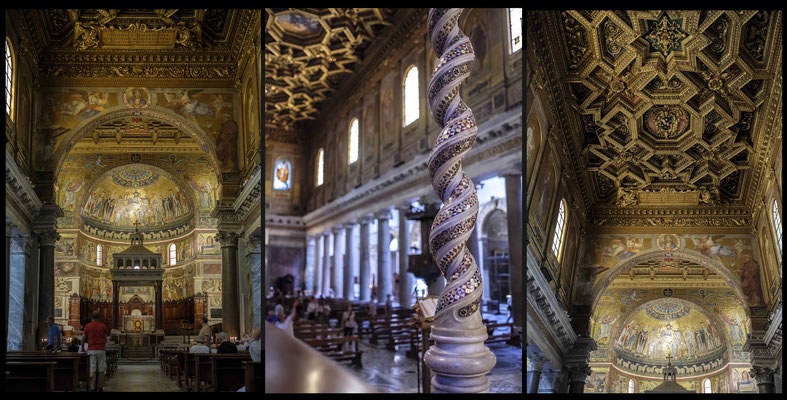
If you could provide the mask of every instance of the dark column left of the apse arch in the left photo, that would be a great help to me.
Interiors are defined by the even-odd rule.
[[[55,315],[55,243],[60,235],[54,230],[38,233],[38,341],[49,338],[47,319]]]

